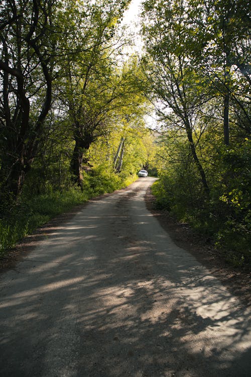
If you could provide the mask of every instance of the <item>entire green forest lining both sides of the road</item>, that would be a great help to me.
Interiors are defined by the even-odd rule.
[[[142,0],[137,52],[130,3],[1,3],[0,255],[145,168],[157,208],[246,268],[248,2]]]

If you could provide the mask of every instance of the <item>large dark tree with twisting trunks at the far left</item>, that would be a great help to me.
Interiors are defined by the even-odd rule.
[[[0,10],[2,191],[18,196],[51,107],[55,1],[10,0]]]

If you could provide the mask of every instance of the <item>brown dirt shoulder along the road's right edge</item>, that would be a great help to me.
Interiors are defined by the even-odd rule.
[[[251,273],[229,265],[212,245],[195,235],[186,224],[179,224],[168,211],[157,210],[151,187],[145,195],[147,209],[158,219],[161,226],[169,233],[173,242],[188,250],[201,264],[217,277],[221,283],[247,306],[251,304]]]

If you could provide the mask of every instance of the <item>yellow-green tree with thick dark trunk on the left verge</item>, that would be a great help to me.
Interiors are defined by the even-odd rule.
[[[60,100],[68,106],[74,150],[71,173],[82,185],[82,164],[90,144],[110,132],[127,113],[140,112],[145,99],[137,94],[137,61],[124,65],[116,58],[119,46],[114,29],[126,4],[97,2],[91,7],[91,30],[83,34],[83,46],[65,67]],[[113,4],[113,6],[111,6]],[[107,9],[106,9],[107,7]],[[86,47],[89,47],[88,50]]]

